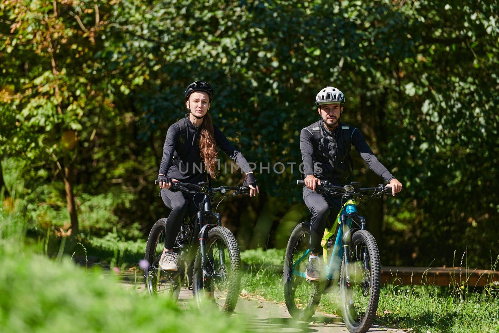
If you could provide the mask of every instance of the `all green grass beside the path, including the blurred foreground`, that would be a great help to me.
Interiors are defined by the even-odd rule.
[[[190,332],[206,327],[243,332],[242,317],[230,319],[212,309],[182,311],[171,300],[126,291],[112,274],[78,267],[61,252],[55,260],[35,254],[36,248],[47,253],[48,242],[24,245],[25,210],[15,191],[13,198],[4,200],[0,194],[0,332]],[[127,242],[112,233],[84,240],[75,253],[85,261],[93,255],[118,266],[136,264],[144,248],[145,241]],[[241,257],[242,288],[284,302],[284,251],[248,250]],[[336,313],[337,295],[324,295],[318,311]],[[480,293],[469,292],[466,282],[449,288],[386,285],[375,324],[414,332],[499,332],[499,285]]]

